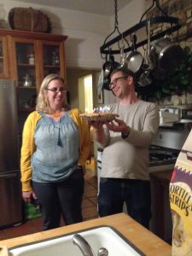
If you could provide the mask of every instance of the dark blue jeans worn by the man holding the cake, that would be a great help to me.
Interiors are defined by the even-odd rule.
[[[131,218],[148,228],[151,218],[150,182],[101,177],[98,195],[100,217],[123,212],[124,202]]]

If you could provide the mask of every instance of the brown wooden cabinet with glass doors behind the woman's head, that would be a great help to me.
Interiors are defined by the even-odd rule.
[[[0,30],[0,79],[15,81],[19,112],[34,109],[40,85],[49,73],[65,76],[67,36]]]

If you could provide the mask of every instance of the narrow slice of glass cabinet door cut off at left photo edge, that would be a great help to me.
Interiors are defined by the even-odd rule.
[[[8,45],[5,37],[0,37],[0,78],[9,78]]]

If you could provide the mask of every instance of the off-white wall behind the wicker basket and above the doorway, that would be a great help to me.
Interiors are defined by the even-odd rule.
[[[0,0],[0,8],[1,12],[4,12],[5,20],[8,20],[9,10],[14,7],[40,9],[51,20],[51,33],[68,36],[66,41],[67,67],[101,67],[99,45],[102,44],[104,35],[110,28],[110,20],[107,16],[90,15],[33,3]]]

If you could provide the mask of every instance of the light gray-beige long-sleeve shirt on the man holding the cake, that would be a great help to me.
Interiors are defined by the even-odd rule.
[[[112,113],[131,128],[126,139],[120,132],[105,129],[109,138],[102,154],[100,177],[117,177],[148,180],[148,148],[159,127],[158,106],[151,102],[122,102],[110,106]]]

